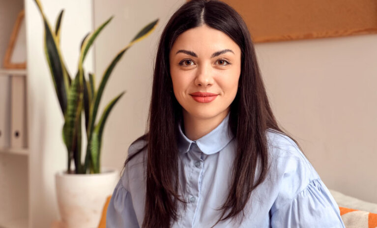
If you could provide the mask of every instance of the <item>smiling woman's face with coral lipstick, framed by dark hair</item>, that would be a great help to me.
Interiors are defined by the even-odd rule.
[[[241,50],[227,34],[207,25],[187,30],[175,40],[169,61],[183,115],[210,119],[228,114],[237,94]]]

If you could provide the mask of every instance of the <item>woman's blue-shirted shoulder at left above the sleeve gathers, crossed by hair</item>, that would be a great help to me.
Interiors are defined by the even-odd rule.
[[[121,180],[123,187],[129,190],[132,182],[139,182],[144,179],[145,158],[147,154],[147,141],[145,135],[139,137],[128,147],[127,159]]]

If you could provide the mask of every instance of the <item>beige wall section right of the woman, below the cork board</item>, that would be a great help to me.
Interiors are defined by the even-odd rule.
[[[377,35],[256,49],[278,121],[327,187],[377,203]]]

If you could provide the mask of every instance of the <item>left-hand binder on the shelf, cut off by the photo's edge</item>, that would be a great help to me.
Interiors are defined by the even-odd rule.
[[[0,149],[10,146],[10,77],[0,75]]]

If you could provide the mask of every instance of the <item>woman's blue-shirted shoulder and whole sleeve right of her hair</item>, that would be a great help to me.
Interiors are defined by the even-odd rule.
[[[273,227],[344,227],[339,207],[317,171],[287,135],[267,132]]]

